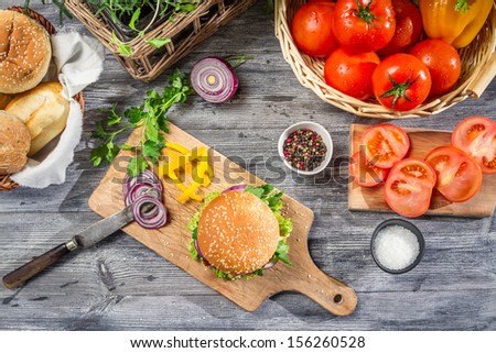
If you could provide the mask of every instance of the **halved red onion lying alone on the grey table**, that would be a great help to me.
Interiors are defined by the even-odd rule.
[[[207,56],[197,62],[191,70],[190,79],[196,93],[212,103],[224,103],[238,89],[233,67],[217,56]]]

